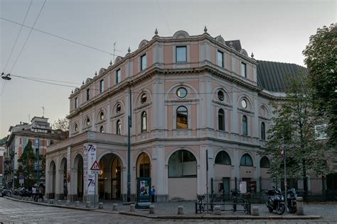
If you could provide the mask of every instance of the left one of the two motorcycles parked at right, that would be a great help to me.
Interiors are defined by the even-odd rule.
[[[269,213],[272,213],[275,210],[278,215],[282,215],[286,210],[286,206],[284,205],[284,196],[282,195],[281,190],[269,190],[267,191],[267,195],[269,198],[266,206]]]

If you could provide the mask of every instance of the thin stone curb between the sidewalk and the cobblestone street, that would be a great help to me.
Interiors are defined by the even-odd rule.
[[[286,215],[286,216],[276,216],[276,215],[267,215],[267,216],[253,216],[253,215],[143,215],[139,213],[132,213],[127,211],[107,211],[97,208],[80,208],[75,206],[63,206],[63,205],[55,205],[55,204],[48,204],[48,203],[40,203],[35,201],[23,201],[16,198],[11,198],[5,196],[6,199],[12,201],[21,201],[25,203],[34,203],[40,206],[51,206],[57,208],[68,208],[68,209],[75,209],[75,210],[82,210],[82,211],[93,211],[97,213],[113,213],[113,214],[120,214],[120,215],[130,215],[130,216],[137,216],[143,218],[151,218],[151,219],[169,219],[169,220],[317,220],[323,218],[322,215]]]

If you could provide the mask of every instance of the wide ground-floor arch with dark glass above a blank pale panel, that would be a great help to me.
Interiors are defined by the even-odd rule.
[[[197,194],[197,161],[192,152],[178,150],[169,158],[169,198],[194,200]]]

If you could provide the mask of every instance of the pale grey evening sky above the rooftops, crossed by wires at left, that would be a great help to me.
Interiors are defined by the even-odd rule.
[[[0,79],[0,138],[33,116],[50,124],[67,116],[72,86],[109,66],[114,43],[115,55],[123,57],[128,47],[151,40],[156,28],[159,36],[200,35],[207,26],[213,37],[240,40],[257,60],[305,66],[301,52],[317,28],[336,23],[336,2],[0,0],[0,69],[12,75]]]

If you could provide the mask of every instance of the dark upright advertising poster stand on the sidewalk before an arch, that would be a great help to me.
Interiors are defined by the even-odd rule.
[[[137,204],[136,208],[149,208],[151,206],[151,178],[137,178]]]

